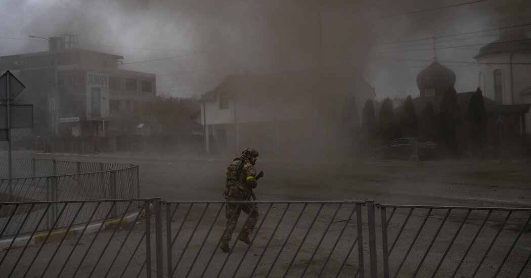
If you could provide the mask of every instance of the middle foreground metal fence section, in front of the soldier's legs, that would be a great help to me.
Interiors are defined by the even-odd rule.
[[[229,202],[164,202],[165,274],[177,277],[364,276],[362,204],[352,202],[252,202],[260,207],[251,245],[219,245]],[[230,203],[238,204],[236,201]],[[221,215],[221,217],[220,217]],[[233,215],[234,217],[234,215]],[[245,223],[249,214],[240,216]],[[217,225],[216,225],[217,223]],[[326,273],[326,275],[324,275]]]

